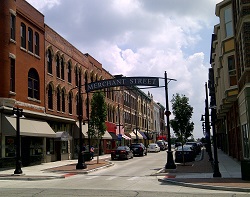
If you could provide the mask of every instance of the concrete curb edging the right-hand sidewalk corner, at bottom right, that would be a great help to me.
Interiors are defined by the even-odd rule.
[[[232,192],[250,192],[250,188],[239,188],[239,187],[223,187],[223,186],[214,186],[214,185],[203,185],[203,184],[194,184],[194,183],[186,183],[173,179],[159,179],[159,182],[162,183],[171,183],[174,185],[184,186],[184,187],[192,187],[198,189],[210,189],[210,190],[223,190],[223,191],[232,191]]]

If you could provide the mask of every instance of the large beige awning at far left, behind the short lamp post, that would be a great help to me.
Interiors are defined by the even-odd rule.
[[[5,135],[16,135],[16,118],[4,116],[3,130]],[[56,133],[47,122],[20,118],[20,135],[34,137],[56,137]]]

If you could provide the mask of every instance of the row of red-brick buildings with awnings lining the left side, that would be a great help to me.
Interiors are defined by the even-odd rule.
[[[2,0],[0,18],[0,167],[15,162],[14,108],[24,115],[20,117],[23,165],[76,159],[80,135],[84,144],[94,143],[87,134],[84,85],[114,76],[46,25],[43,14],[25,0]],[[97,150],[109,153],[118,145],[118,132],[123,132],[121,144],[129,144],[131,138],[126,133],[134,128],[152,131],[151,97],[126,87],[104,92],[107,131]],[[92,93],[88,96],[91,100]],[[83,103],[82,131],[79,100]]]

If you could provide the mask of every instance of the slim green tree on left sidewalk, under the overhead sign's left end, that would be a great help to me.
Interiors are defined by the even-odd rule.
[[[91,100],[90,127],[89,134],[91,138],[97,139],[97,147],[100,147],[100,140],[106,131],[107,104],[104,93],[95,92]],[[97,154],[97,163],[99,163],[99,154]]]

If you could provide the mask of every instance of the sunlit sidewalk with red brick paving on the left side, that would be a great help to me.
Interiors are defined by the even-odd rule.
[[[110,155],[99,156],[99,163],[97,164],[97,157],[92,161],[87,161],[86,169],[76,169],[77,160],[63,160],[50,163],[42,163],[40,165],[22,167],[22,174],[14,174],[15,169],[1,170],[0,180],[48,180],[60,179],[73,176],[76,174],[87,174],[102,168],[113,165],[109,160]]]

